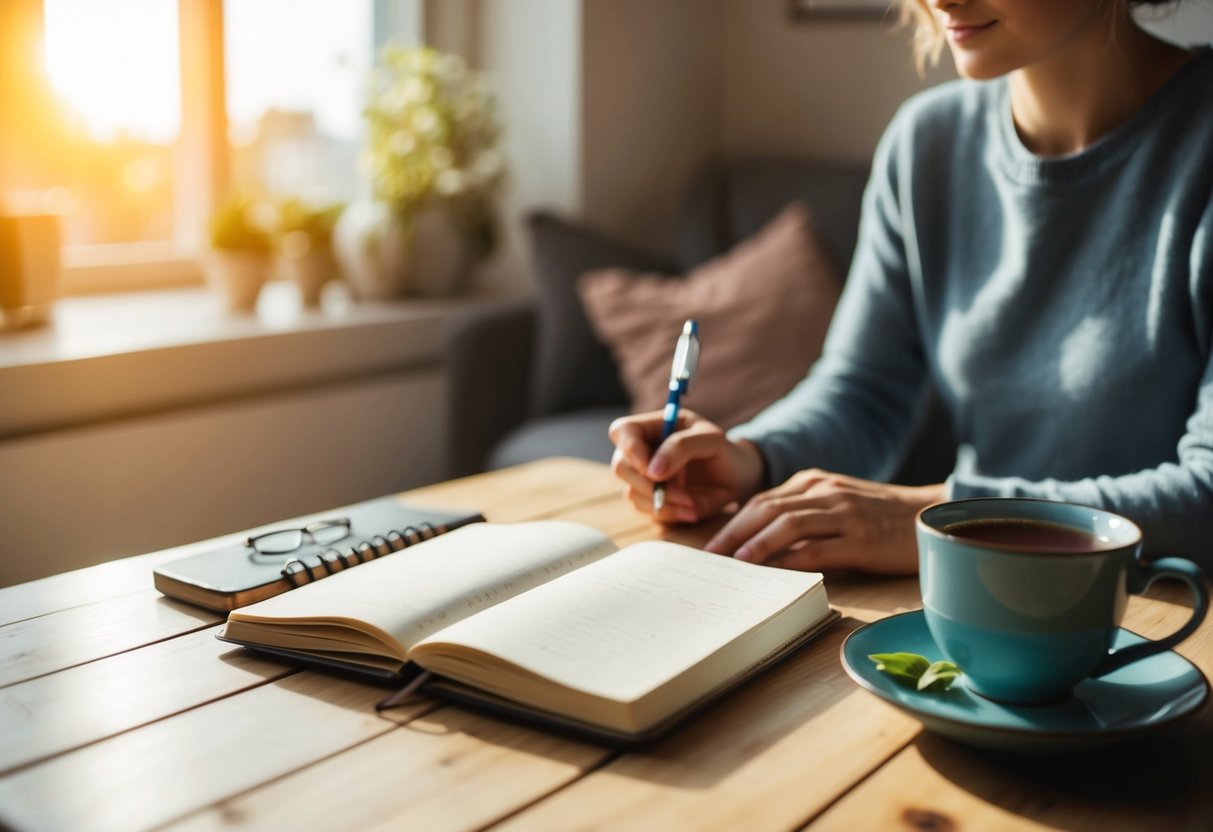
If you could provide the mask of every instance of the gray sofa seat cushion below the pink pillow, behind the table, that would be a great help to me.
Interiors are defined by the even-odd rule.
[[[606,437],[606,428],[613,420],[626,414],[625,405],[615,405],[531,420],[511,431],[494,446],[489,468],[505,468],[546,456],[610,462],[615,449]]]

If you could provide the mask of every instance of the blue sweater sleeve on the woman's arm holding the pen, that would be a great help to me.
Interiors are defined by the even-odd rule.
[[[768,485],[827,468],[888,479],[926,400],[926,363],[915,318],[899,199],[899,120],[877,148],[864,193],[859,241],[821,358],[787,395],[729,432],[758,445]],[[900,173],[899,173],[900,171]]]

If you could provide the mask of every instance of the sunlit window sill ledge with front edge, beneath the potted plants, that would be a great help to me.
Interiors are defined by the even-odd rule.
[[[50,324],[0,332],[0,439],[440,365],[446,326],[489,297],[319,309],[267,284],[226,313],[205,289],[66,297]]]

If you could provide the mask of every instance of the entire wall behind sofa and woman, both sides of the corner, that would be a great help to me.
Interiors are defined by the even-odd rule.
[[[431,0],[466,22],[475,0]],[[449,5],[451,4],[451,5]],[[506,216],[536,206],[666,249],[680,187],[710,153],[871,156],[915,92],[909,33],[890,21],[793,21],[787,0],[479,0],[468,51],[499,85],[513,170]],[[1151,24],[1213,41],[1213,1]],[[525,234],[507,228],[485,283],[530,289]]]

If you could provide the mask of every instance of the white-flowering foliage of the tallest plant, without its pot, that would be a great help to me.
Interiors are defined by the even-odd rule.
[[[445,204],[478,253],[489,253],[506,166],[496,97],[483,75],[457,55],[388,45],[364,114],[375,196],[406,221]]]

